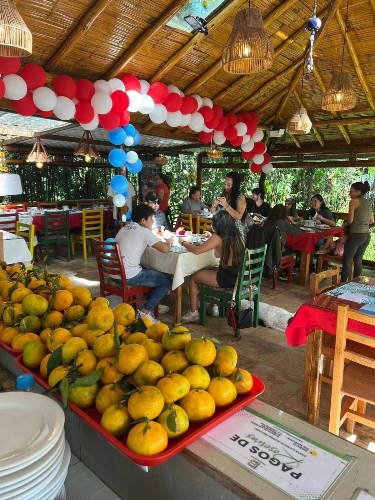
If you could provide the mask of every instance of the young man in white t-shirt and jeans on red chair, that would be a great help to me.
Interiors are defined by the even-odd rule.
[[[120,246],[127,284],[151,286],[153,288],[140,315],[148,317],[153,323],[158,322],[153,314],[156,304],[168,293],[172,278],[162,272],[144,269],[139,265],[140,257],[146,246],[166,253],[173,243],[173,236],[165,243],[151,231],[154,211],[151,206],[138,205],[131,212],[131,222],[120,229],[114,241]]]

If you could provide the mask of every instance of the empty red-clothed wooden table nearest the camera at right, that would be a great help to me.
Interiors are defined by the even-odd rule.
[[[358,276],[348,283],[360,283],[367,285],[375,302],[375,277]],[[358,310],[364,303],[354,300],[358,298],[353,295],[353,300],[348,300],[350,296],[345,293],[345,297],[340,297],[340,288],[343,285],[333,288],[326,293],[320,293],[303,303],[296,311],[285,328],[286,340],[289,346],[303,345],[309,343],[307,356],[310,356],[310,387],[307,394],[307,420],[316,424],[319,418],[319,400],[322,376],[322,339],[323,332],[330,335],[336,334],[337,308],[339,305],[348,305],[350,309]],[[335,293],[335,295],[330,295]],[[348,320],[348,329],[362,333],[370,337],[375,337],[375,326],[358,323],[352,319]],[[309,354],[310,353],[310,354]]]

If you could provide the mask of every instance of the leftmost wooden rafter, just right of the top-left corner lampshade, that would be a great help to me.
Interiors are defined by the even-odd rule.
[[[44,65],[46,71],[53,71],[60,64],[62,59],[70,52],[76,43],[86,34],[94,20],[101,14],[103,10],[111,3],[112,0],[96,0],[93,5],[80,19],[69,36],[61,43],[52,57]]]

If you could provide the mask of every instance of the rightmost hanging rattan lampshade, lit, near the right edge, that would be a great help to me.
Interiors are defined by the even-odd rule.
[[[355,106],[357,97],[350,83],[349,73],[334,74],[321,98],[321,108],[326,111],[345,111]]]

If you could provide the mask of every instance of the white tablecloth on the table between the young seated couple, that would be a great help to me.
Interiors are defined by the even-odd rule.
[[[183,283],[183,278],[200,269],[209,269],[218,265],[219,259],[210,250],[200,255],[188,251],[181,253],[172,250],[161,253],[155,248],[147,247],[140,259],[140,265],[146,269],[165,272],[173,275],[172,290]]]

